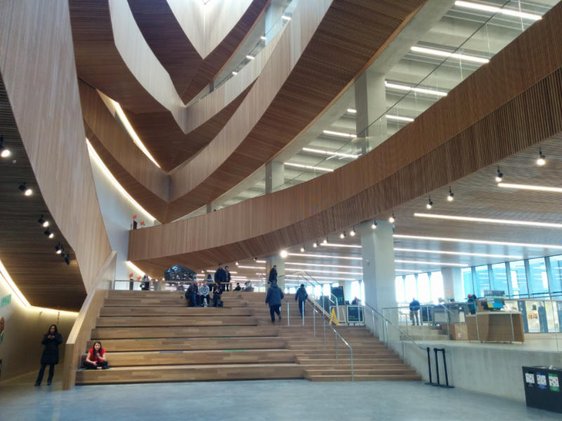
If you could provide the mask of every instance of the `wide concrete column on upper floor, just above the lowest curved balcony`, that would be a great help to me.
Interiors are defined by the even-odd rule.
[[[386,140],[386,118],[384,116],[370,126],[386,112],[384,74],[364,72],[355,81],[354,87],[355,109],[357,110],[355,133],[361,139],[358,142],[361,145],[361,153],[365,154]]]

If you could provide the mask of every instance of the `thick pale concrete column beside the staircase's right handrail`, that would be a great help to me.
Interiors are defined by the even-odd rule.
[[[365,303],[382,314],[384,307],[396,307],[394,241],[393,225],[387,221],[377,222],[377,229],[371,228],[372,221],[363,222],[360,225],[360,233]],[[370,326],[370,316],[367,314],[370,312],[367,311],[365,315],[367,325]],[[392,315],[388,315],[388,318],[393,320]],[[374,328],[381,336],[380,320]]]

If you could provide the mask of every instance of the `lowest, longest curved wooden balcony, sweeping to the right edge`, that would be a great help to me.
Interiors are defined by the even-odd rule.
[[[562,48],[548,40],[562,37],[561,22],[558,4],[446,98],[360,159],[215,213],[131,232],[129,259],[156,275],[175,263],[212,267],[218,260],[270,255],[388,213],[554,138],[562,132]],[[540,64],[524,67],[521,57]]]

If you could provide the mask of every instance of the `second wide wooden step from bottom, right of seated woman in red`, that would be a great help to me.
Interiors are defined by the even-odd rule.
[[[85,356],[85,354],[84,354]],[[294,363],[286,349],[236,349],[213,351],[112,352],[107,353],[111,367],[159,366],[181,364]]]

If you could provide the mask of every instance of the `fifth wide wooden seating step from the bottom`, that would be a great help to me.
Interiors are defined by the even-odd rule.
[[[98,317],[97,328],[140,326],[256,326],[252,316],[149,316]]]

